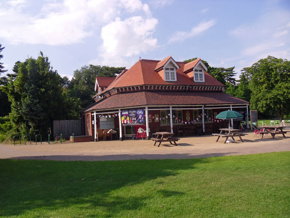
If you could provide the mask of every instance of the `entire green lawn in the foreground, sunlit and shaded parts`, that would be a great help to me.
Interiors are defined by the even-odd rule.
[[[289,217],[290,152],[0,160],[0,217]]]

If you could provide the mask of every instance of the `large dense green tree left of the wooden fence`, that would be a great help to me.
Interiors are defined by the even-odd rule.
[[[51,121],[72,119],[76,107],[62,84],[62,78],[50,67],[42,52],[37,59],[28,58],[17,64],[16,79],[12,76],[3,90],[11,102],[10,119],[15,131],[22,134],[50,132]]]

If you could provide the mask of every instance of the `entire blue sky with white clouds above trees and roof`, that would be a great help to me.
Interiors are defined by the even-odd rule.
[[[290,60],[289,0],[0,0],[0,26],[7,73],[40,51],[70,79],[85,65],[129,69],[139,57],[197,57],[237,76],[269,55]]]

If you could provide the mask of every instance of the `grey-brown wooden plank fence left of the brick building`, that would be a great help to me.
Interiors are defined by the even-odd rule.
[[[82,135],[81,120],[68,119],[68,120],[54,120],[53,121],[53,137],[72,135]]]

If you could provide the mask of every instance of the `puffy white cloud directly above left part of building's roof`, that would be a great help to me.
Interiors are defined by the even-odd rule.
[[[156,49],[157,39],[152,37],[158,20],[155,18],[117,18],[102,28],[103,44],[98,60],[104,65],[120,61],[120,57],[132,57],[141,52]],[[121,60],[124,62],[124,60]]]

